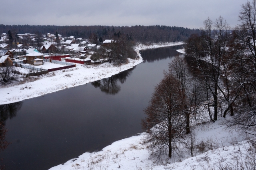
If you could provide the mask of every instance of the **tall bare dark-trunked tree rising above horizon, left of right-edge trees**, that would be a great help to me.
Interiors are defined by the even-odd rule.
[[[207,94],[208,110],[214,108],[213,121],[217,120],[218,117],[218,102],[219,91],[226,96],[226,100],[229,103],[228,109],[232,102],[230,98],[224,93],[223,86],[221,86],[221,73],[224,56],[227,53],[227,43],[229,38],[229,29],[227,22],[222,16],[213,22],[210,18],[204,21],[204,28],[201,29],[201,36],[193,36],[188,40],[188,46],[186,52],[189,56],[196,59],[196,66],[200,71],[200,76],[204,82],[205,91]],[[208,96],[208,90],[211,96]],[[213,98],[212,100],[209,100]],[[212,120],[212,118],[211,118]]]

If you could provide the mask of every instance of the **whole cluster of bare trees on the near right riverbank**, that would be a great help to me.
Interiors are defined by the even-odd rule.
[[[191,63],[176,56],[156,86],[143,126],[152,155],[172,157],[190,134],[191,122],[226,118],[229,128],[255,136],[256,131],[256,0],[240,10],[232,31],[222,16],[204,21],[185,51]],[[248,22],[250,21],[250,22]],[[193,156],[192,138],[190,152]],[[254,138],[255,142],[255,138]],[[255,159],[255,157],[254,157]],[[254,164],[255,166],[255,164]]]

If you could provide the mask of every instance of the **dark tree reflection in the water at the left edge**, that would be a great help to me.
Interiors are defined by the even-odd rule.
[[[0,105],[0,152],[5,150],[7,146],[10,144],[10,142],[7,142],[5,140],[6,132],[8,129],[6,129],[5,122],[6,120],[12,119],[16,116],[17,111],[20,110],[22,107],[22,102],[16,102],[16,103],[10,103],[10,104],[2,104]],[[1,163],[3,163],[3,159],[1,159]],[[0,165],[0,170],[4,169],[5,165]]]

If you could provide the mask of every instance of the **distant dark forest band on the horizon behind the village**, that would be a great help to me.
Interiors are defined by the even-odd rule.
[[[6,33],[17,32],[18,34],[40,32],[42,34],[56,31],[63,37],[75,36],[75,38],[86,39],[91,34],[102,37],[103,39],[111,38],[114,33],[122,33],[131,36],[134,42],[139,44],[151,44],[159,42],[176,42],[184,41],[191,34],[199,33],[198,29],[189,29],[177,26],[51,26],[51,25],[4,25],[0,24],[0,32]]]

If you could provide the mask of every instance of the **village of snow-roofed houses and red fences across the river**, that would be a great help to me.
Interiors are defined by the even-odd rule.
[[[57,40],[56,36],[58,36]],[[76,64],[106,62],[106,59],[103,58],[91,60],[90,56],[94,53],[94,50],[100,48],[100,45],[90,44],[89,40],[82,40],[82,38],[75,38],[74,36],[62,38],[60,34],[50,33],[40,35],[40,40],[35,37],[38,37],[38,35],[17,34],[12,46],[10,46],[9,36],[3,33],[0,40],[0,65],[5,66],[8,61],[10,66],[14,65],[28,68],[33,72],[34,70],[40,72],[72,68]],[[21,41],[17,41],[18,39]],[[24,39],[29,41],[24,41]],[[104,40],[100,44],[108,46],[113,42],[114,40]]]

